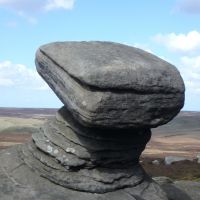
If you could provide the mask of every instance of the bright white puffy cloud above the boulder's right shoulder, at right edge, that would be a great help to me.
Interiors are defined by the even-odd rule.
[[[195,30],[187,34],[158,34],[154,40],[176,52],[194,53],[200,50],[200,32]]]

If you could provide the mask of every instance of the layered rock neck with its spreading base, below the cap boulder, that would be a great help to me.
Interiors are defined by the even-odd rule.
[[[1,174],[6,184],[2,187],[12,188],[9,195],[29,195],[20,190],[24,187],[38,195],[48,190],[48,199],[71,195],[68,199],[165,200],[164,192],[139,164],[150,137],[148,128],[84,127],[63,107],[33,134],[32,142],[3,151]]]

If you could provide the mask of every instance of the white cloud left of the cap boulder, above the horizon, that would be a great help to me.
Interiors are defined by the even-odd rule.
[[[29,90],[48,90],[48,85],[38,73],[21,64],[10,61],[0,62],[0,87],[13,87]]]

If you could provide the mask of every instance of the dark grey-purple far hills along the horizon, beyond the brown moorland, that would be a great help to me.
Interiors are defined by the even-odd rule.
[[[0,117],[48,118],[54,116],[56,108],[0,108]],[[159,134],[200,134],[200,112],[182,111],[166,125],[152,129]]]

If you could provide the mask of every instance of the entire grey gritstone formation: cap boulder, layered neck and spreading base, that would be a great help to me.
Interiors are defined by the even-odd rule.
[[[2,151],[0,197],[167,200],[139,157],[150,128],[184,104],[176,68],[110,42],[48,44],[37,51],[36,65],[64,106],[31,142]]]

